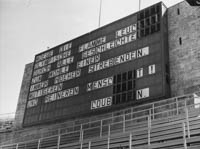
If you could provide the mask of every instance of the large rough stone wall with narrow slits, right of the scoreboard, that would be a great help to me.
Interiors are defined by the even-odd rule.
[[[168,9],[171,95],[200,90],[200,8],[186,1]]]

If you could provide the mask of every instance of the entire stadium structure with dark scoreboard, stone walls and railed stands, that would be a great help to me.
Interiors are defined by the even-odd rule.
[[[199,24],[159,2],[37,54],[0,149],[199,149]]]

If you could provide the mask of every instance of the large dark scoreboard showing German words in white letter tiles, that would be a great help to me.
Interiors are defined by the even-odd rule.
[[[23,126],[170,96],[166,8],[155,4],[35,56]]]

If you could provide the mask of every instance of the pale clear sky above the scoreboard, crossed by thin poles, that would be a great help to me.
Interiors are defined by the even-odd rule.
[[[163,0],[167,7],[182,0]],[[141,0],[141,9],[160,0]],[[15,113],[25,64],[47,48],[98,28],[100,0],[0,0],[0,117]],[[102,0],[101,26],[139,10],[139,0]]]

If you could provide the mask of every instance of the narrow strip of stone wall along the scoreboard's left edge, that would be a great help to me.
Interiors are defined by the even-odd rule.
[[[18,98],[17,110],[15,113],[15,122],[14,122],[15,129],[22,128],[32,69],[33,69],[33,63],[27,64],[24,69],[24,76]]]

